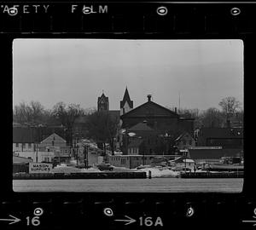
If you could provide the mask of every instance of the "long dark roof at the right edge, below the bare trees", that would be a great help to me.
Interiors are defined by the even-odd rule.
[[[242,128],[201,128],[200,136],[205,138],[243,138]]]

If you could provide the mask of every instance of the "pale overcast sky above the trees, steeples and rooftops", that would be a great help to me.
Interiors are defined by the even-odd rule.
[[[119,109],[127,86],[134,107],[152,95],[161,106],[217,107],[243,101],[241,40],[15,39],[13,101],[96,107],[108,96]]]

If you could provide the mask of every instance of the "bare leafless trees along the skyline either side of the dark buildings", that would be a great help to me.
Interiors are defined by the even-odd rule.
[[[241,102],[235,97],[226,97],[218,105],[220,109],[210,107],[201,111],[195,109],[178,109],[177,113],[184,118],[195,118],[195,129],[201,127],[225,127],[233,120],[243,124]],[[172,109],[172,108],[171,108]],[[172,109],[174,110],[174,109]],[[20,102],[13,109],[13,121],[30,126],[62,125],[67,129],[69,143],[73,143],[74,124],[76,119],[85,118],[86,135],[97,142],[108,143],[113,151],[113,138],[118,129],[118,118],[109,112],[98,112],[96,108],[82,108],[79,104],[58,102],[52,109],[46,109],[38,101]]]

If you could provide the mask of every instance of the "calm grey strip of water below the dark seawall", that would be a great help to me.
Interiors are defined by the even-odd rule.
[[[15,192],[240,193],[241,178],[14,180]]]

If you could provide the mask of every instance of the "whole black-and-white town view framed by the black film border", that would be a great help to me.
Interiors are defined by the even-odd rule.
[[[243,49],[14,39],[13,190],[241,193]]]

